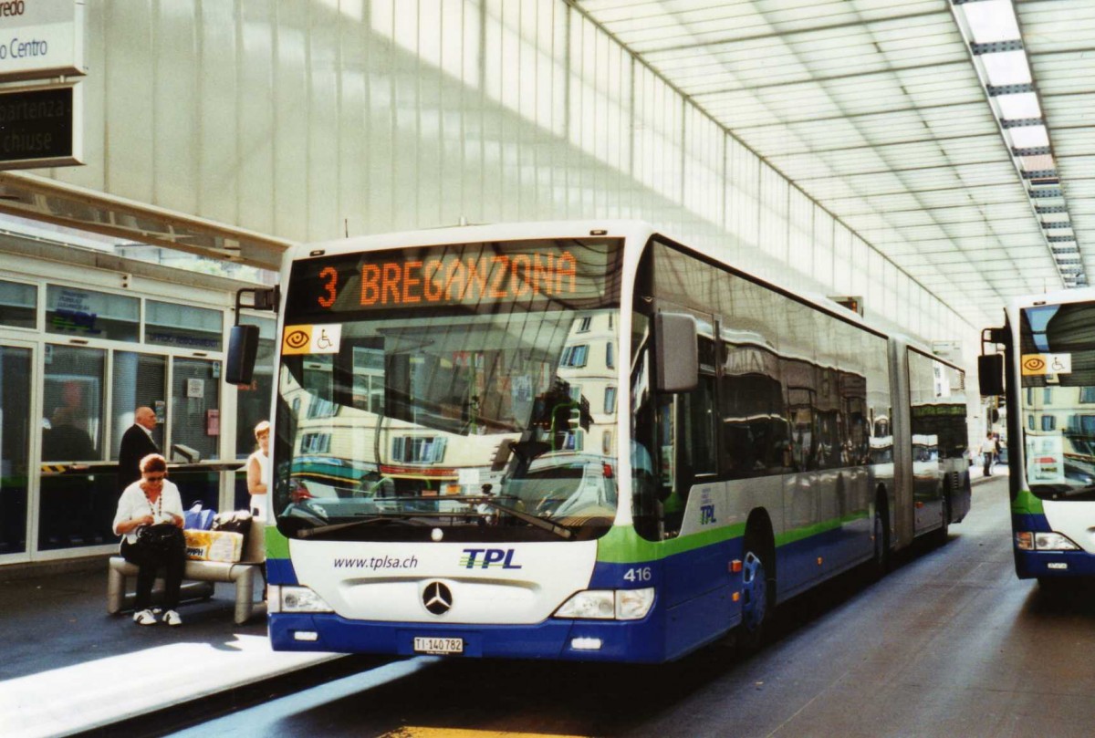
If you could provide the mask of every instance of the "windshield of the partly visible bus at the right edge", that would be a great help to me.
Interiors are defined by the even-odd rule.
[[[1095,499],[1095,303],[1026,308],[1019,330],[1030,492]]]

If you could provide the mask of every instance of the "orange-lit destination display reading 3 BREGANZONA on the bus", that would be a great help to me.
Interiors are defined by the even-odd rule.
[[[600,307],[618,299],[619,246],[618,239],[541,239],[303,260],[292,265],[287,312]]]

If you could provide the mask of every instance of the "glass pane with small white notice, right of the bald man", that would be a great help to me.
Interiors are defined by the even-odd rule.
[[[171,442],[201,454],[201,461],[220,458],[220,361],[174,359],[171,381]]]

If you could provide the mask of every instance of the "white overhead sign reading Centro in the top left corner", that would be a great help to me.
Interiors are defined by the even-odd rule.
[[[0,0],[0,81],[83,73],[82,1]]]

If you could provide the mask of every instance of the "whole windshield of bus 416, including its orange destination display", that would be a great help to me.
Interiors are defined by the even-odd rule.
[[[542,240],[298,262],[277,388],[283,532],[603,534],[620,251]]]

